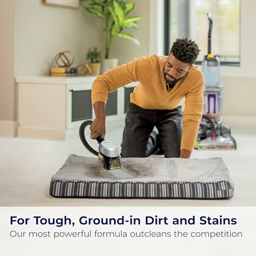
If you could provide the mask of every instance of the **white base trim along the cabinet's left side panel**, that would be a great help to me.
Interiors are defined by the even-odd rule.
[[[42,129],[40,127],[18,127],[17,137],[42,140],[65,140],[65,130]]]

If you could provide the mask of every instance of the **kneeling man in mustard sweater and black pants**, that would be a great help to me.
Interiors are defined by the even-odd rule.
[[[138,81],[126,112],[121,156],[147,157],[159,147],[165,157],[189,158],[203,110],[204,78],[193,65],[199,52],[195,41],[178,38],[168,56],[141,57],[98,76],[92,86],[91,138],[105,136],[108,93]]]

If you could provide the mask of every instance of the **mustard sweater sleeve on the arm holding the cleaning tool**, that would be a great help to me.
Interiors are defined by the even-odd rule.
[[[154,57],[140,57],[98,76],[92,85],[92,104],[96,101],[106,103],[108,93],[128,83],[143,81],[154,67]]]

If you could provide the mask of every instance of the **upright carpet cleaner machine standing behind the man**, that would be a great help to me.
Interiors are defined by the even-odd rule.
[[[211,14],[207,13],[207,17],[208,54],[202,61],[205,79],[204,109],[195,148],[237,149],[236,140],[231,136],[230,126],[222,122],[223,84],[220,76],[220,60],[218,56],[211,53]]]

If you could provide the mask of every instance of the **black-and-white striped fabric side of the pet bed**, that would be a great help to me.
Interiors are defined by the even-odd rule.
[[[187,198],[233,197],[233,184],[218,182],[100,182],[51,180],[53,197],[83,198]]]

